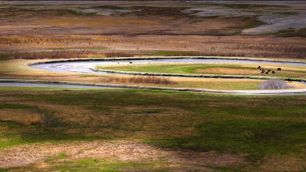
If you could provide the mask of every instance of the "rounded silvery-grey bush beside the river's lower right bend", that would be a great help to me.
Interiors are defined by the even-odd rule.
[[[288,85],[286,81],[279,79],[269,79],[260,84],[257,89],[262,90],[276,90],[276,89],[286,89],[291,88],[291,85]]]

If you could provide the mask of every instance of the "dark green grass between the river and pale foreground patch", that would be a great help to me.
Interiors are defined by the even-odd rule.
[[[47,109],[48,104],[66,106],[66,109],[50,112],[57,120],[55,123],[62,123],[62,129],[55,132],[51,130],[52,126],[25,127],[12,121],[1,121],[7,130],[2,131],[0,139],[9,140],[2,142],[1,148],[43,142],[131,139],[127,133],[134,133],[133,138],[162,148],[248,153],[250,162],[270,154],[302,155],[306,151],[299,146],[306,141],[306,123],[303,120],[306,115],[305,95],[244,96],[154,90],[0,92],[0,98],[10,96],[24,102],[44,102],[46,105],[40,107],[42,109]],[[91,119],[78,120],[77,116],[69,122],[71,106],[91,109],[91,115],[96,117],[102,113],[114,118],[114,122],[102,121],[93,125]],[[128,107],[133,109],[128,110]],[[171,116],[133,115],[161,109],[162,114],[175,113]],[[153,119],[155,123],[151,123]],[[58,125],[55,123],[54,126]],[[182,137],[176,133],[186,127],[194,127],[197,134]],[[69,129],[75,132],[65,132]],[[139,131],[143,134],[137,135]],[[158,134],[160,132],[163,134]],[[172,133],[175,136],[171,136]]]

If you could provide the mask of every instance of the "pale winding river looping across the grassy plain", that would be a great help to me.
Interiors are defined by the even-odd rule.
[[[267,61],[251,61],[251,60],[229,60],[229,59],[150,59],[150,60],[99,60],[91,59],[90,61],[77,61],[77,62],[48,62],[43,64],[34,64],[30,65],[31,67],[45,70],[52,70],[58,72],[71,72],[71,73],[95,73],[95,74],[114,74],[107,72],[98,72],[93,71],[92,68],[95,65],[106,65],[106,64],[122,64],[122,63],[156,63],[156,62],[233,62],[233,63],[274,63],[274,64],[283,64],[283,65],[301,65],[306,66],[306,63],[294,63],[294,62],[267,62]],[[306,84],[306,82],[299,82],[301,84]],[[112,87],[112,84],[93,84],[93,85],[84,85],[84,84],[45,84],[45,83],[33,83],[32,81],[24,81],[20,83],[18,80],[10,82],[10,80],[0,80],[0,85],[9,85],[9,86],[48,86],[48,87],[74,87],[74,88],[129,88],[127,86],[116,85]],[[154,88],[145,88],[141,86],[130,87],[136,89],[154,89]],[[129,88],[129,89],[130,89]],[[183,90],[181,88],[159,88],[158,90],[173,90],[173,91],[196,91],[196,92],[213,92],[213,93],[224,93],[224,94],[244,94],[244,95],[306,95],[306,89],[300,90],[256,90],[256,91],[246,91],[246,90],[237,90],[237,91],[221,91],[221,90],[208,90],[208,89],[188,89]]]

